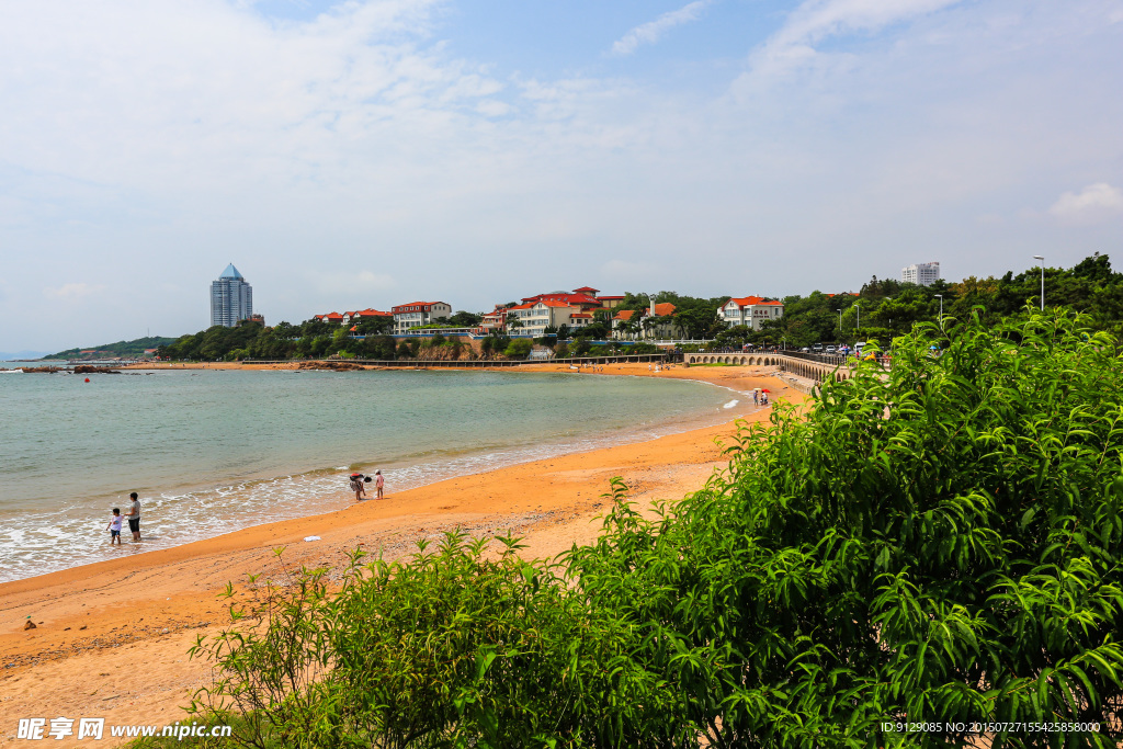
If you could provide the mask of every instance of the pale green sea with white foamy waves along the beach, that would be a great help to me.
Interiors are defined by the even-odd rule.
[[[152,550],[345,506],[355,469],[381,468],[392,493],[715,421],[738,398],[683,381],[495,372],[84,380],[0,374],[0,581],[130,552],[103,531],[130,491]]]

